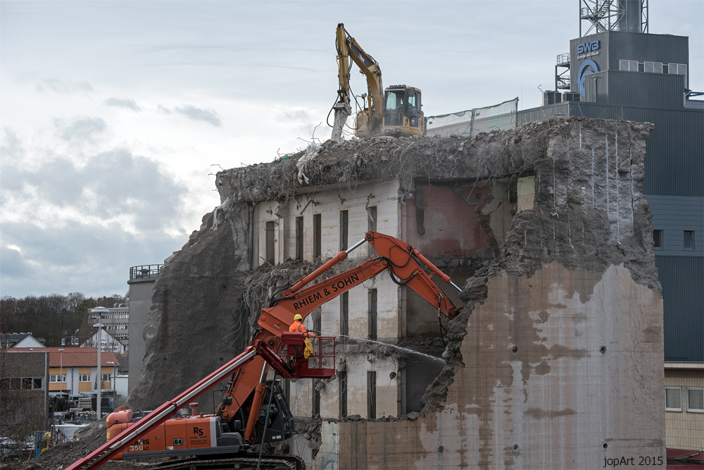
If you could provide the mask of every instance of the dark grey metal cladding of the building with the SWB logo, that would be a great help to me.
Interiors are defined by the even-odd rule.
[[[643,192],[654,230],[662,230],[655,264],[665,309],[665,361],[704,362],[704,106],[684,96],[689,38],[608,31],[573,39],[570,57],[573,92],[580,93],[582,70],[581,101],[519,111],[517,125],[552,116],[655,125]],[[620,61],[631,61],[624,63],[628,70],[620,70]],[[662,63],[663,73],[646,72],[646,61]],[[670,63],[677,73],[668,73]],[[694,233],[691,248],[684,246],[685,231]]]

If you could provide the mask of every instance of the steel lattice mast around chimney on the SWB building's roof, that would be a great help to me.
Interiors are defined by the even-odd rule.
[[[579,37],[606,31],[647,33],[648,0],[579,0]]]

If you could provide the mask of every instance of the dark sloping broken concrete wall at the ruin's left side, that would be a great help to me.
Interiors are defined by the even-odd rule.
[[[231,208],[228,223],[222,212],[207,214],[186,245],[165,261],[144,328],[142,376],[128,406],[152,409],[244,350],[251,334],[241,311],[249,270],[242,242],[247,214],[245,204]],[[201,411],[213,410],[210,393],[200,404]]]

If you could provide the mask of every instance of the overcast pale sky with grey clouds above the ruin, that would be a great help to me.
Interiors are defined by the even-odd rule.
[[[130,266],[163,263],[218,205],[213,165],[271,161],[318,123],[328,139],[337,23],[428,116],[538,106],[578,6],[1,1],[0,294],[124,294]],[[690,37],[696,90],[702,18],[704,1],[650,0],[651,33]]]

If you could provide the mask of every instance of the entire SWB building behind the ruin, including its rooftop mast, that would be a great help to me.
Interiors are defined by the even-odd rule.
[[[518,123],[584,116],[655,125],[647,143],[643,192],[653,212],[655,264],[665,308],[667,388],[662,406],[667,447],[700,450],[704,101],[691,99],[697,93],[689,87],[689,38],[648,34],[647,3],[605,1],[603,11],[597,11],[592,1],[582,0],[580,6],[584,35],[570,41],[569,53],[558,55],[558,91],[545,92],[545,106],[520,111]],[[565,92],[560,94],[560,89]],[[694,398],[688,402],[687,397]]]

